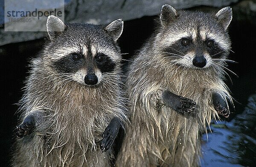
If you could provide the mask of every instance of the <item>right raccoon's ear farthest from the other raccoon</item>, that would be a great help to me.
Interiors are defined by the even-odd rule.
[[[232,9],[230,7],[222,8],[216,13],[216,17],[224,30],[227,30],[227,27],[230,25],[232,20]]]

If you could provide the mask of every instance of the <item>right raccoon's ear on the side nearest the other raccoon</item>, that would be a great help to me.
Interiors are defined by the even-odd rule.
[[[162,6],[160,21],[163,27],[168,26],[168,24],[172,22],[172,20],[175,20],[176,17],[177,17],[176,9],[174,9],[172,6],[167,4]]]

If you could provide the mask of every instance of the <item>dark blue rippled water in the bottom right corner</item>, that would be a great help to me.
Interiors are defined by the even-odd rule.
[[[202,138],[202,167],[256,166],[256,94],[241,114],[230,122],[214,122],[211,130],[208,141],[206,134]]]

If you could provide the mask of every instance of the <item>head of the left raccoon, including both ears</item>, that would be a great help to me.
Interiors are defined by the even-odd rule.
[[[119,73],[121,54],[116,40],[122,29],[121,19],[104,27],[64,24],[58,17],[49,16],[47,32],[51,43],[47,54],[53,72],[84,85],[108,82]]]

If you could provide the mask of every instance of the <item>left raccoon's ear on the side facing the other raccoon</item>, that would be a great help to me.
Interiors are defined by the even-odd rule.
[[[116,41],[122,34],[123,26],[124,22],[122,19],[118,19],[106,26],[105,30],[112,36],[113,40]]]

